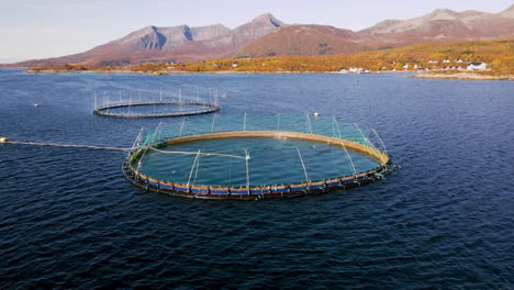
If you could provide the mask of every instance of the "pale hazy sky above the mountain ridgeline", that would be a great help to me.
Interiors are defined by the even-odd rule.
[[[498,13],[514,0],[0,0],[0,63],[88,51],[148,25],[234,29],[262,13],[354,31],[435,9]]]

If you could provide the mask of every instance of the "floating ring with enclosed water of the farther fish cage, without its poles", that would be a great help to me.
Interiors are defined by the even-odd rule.
[[[177,108],[188,107],[187,110],[179,111],[154,111],[141,113],[137,112],[137,108],[142,107],[163,107],[172,105]],[[126,110],[120,110],[126,109]],[[132,109],[132,110],[131,110]],[[143,118],[174,118],[174,116],[187,116],[197,114],[208,114],[216,112],[221,107],[216,103],[210,102],[179,102],[179,101],[142,101],[142,102],[128,102],[128,103],[111,103],[103,104],[94,108],[93,113],[101,116],[109,118],[124,118],[124,119],[143,119]]]

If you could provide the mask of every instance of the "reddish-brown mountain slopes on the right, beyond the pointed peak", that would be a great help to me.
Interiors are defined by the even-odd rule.
[[[500,13],[438,9],[420,18],[386,20],[353,32],[325,25],[280,27],[236,56],[324,55],[383,49],[428,42],[514,38],[514,5]]]

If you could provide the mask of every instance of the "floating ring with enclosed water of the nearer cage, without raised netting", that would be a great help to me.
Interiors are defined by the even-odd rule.
[[[212,130],[209,133],[186,135],[182,134],[181,129],[179,135],[165,136],[164,138],[160,136],[161,133],[160,129],[148,134],[143,145],[136,146],[130,153],[123,165],[123,174],[128,181],[137,187],[169,196],[234,200],[293,198],[360,187],[383,179],[394,169],[390,157],[372,145],[364,134],[362,142],[360,142],[356,138],[342,137],[340,133],[334,136],[292,131],[214,132]],[[158,141],[154,140],[157,135],[159,135]],[[246,145],[237,150],[227,148],[231,144],[238,142]],[[293,155],[270,149],[276,158],[281,159],[268,160],[262,157],[265,156],[262,154],[267,152],[266,148],[269,148],[273,142],[281,144],[280,146],[292,142],[293,146],[284,148]],[[265,144],[265,146],[258,149],[255,146],[252,147],[257,143]],[[309,146],[304,146],[305,144]],[[225,150],[216,150],[215,146]],[[300,148],[301,146],[304,147]],[[316,152],[308,154],[308,149]],[[163,155],[166,157],[160,158]],[[327,157],[327,160],[314,163],[315,158],[323,158],[323,155]],[[337,174],[344,171],[336,170],[337,163],[328,164],[331,163],[329,156],[332,159],[337,159],[334,157],[336,155],[340,156],[337,158],[342,160],[338,165],[344,161],[350,168],[346,174]],[[365,156],[366,160],[356,160],[355,156],[357,155]],[[209,158],[217,159],[214,163],[209,163]],[[230,158],[231,161],[223,161],[220,158]],[[154,160],[156,160],[155,164]],[[172,166],[167,167],[166,163],[182,167],[182,172],[171,171]],[[324,163],[326,164],[324,165]],[[227,168],[228,164],[231,164],[231,168]],[[287,168],[293,164],[295,166],[294,172],[301,175],[301,180],[288,179],[290,175],[286,172]],[[281,165],[283,166],[280,167]],[[255,167],[260,168],[256,169]],[[211,175],[210,181],[201,178],[197,181],[199,168]],[[284,171],[282,180],[270,178],[268,180],[271,181],[266,182],[266,175],[271,176],[271,172],[281,172],[281,170]],[[231,178],[239,175],[241,178],[238,182],[228,182],[226,181],[228,179],[221,175],[225,175],[225,177],[230,175]],[[265,176],[264,179],[262,176]],[[323,178],[320,178],[322,176]]]

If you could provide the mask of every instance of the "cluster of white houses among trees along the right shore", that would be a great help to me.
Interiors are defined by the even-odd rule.
[[[442,65],[439,65],[439,63]],[[451,65],[454,63],[454,65]],[[390,63],[391,66],[395,66],[395,62]],[[451,62],[450,59],[445,59],[442,62],[438,60],[428,60],[427,66],[423,67],[417,64],[404,64],[402,66],[403,70],[450,70],[450,69],[457,69],[457,70],[490,70],[488,68],[488,64],[485,63],[468,63],[462,59],[457,59],[456,62]],[[383,66],[381,70],[396,70],[396,68],[388,68]],[[343,68],[340,69],[342,74],[369,74],[370,71],[368,69],[365,69],[362,67],[349,67],[348,69]]]

